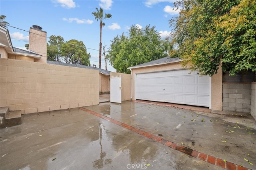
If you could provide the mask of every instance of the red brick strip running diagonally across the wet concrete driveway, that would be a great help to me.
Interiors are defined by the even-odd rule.
[[[89,109],[86,109],[84,107],[79,107],[79,108],[84,110],[84,111],[86,111],[86,112],[88,112],[88,113],[90,113],[90,114],[92,114],[92,115],[95,115],[97,117],[100,117],[102,119],[110,121],[111,123],[114,123],[116,125],[124,127],[125,129],[128,129],[130,131],[138,133],[138,134],[140,134],[140,135],[142,135],[144,137],[147,137],[148,139],[152,139],[153,141],[156,141],[158,143],[166,145],[167,147],[170,147],[172,149],[178,150],[178,151],[180,151],[180,152],[182,152],[184,154],[187,154],[188,156],[192,156],[194,158],[198,158],[200,160],[203,160],[203,161],[208,162],[210,164],[214,164],[214,165],[219,166],[221,168],[224,168],[224,169],[227,169],[227,170],[250,170],[249,168],[242,167],[242,166],[234,164],[232,162],[228,162],[228,161],[224,162],[223,159],[219,159],[219,158],[216,158],[214,156],[210,156],[208,154],[204,154],[202,152],[198,152],[198,151],[196,151],[194,149],[190,149],[190,148],[185,147],[183,145],[179,145],[177,143],[174,143],[174,142],[169,141],[167,139],[164,139],[162,137],[158,137],[156,135],[153,135],[152,133],[148,133],[146,131],[137,129],[136,127],[132,127],[132,126],[126,124],[126,123],[122,123],[122,122],[117,121],[115,119],[112,119],[110,117],[106,117],[106,116],[104,116],[104,115],[102,115],[100,113],[96,113],[96,112],[91,111]]]

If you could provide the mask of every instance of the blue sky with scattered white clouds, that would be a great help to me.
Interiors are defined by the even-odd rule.
[[[11,26],[29,31],[32,25],[39,25],[47,37],[60,35],[64,41],[83,41],[91,54],[90,63],[98,67],[100,41],[99,21],[92,12],[102,7],[112,18],[104,20],[102,45],[110,47],[110,40],[123,32],[127,35],[131,25],[155,26],[164,38],[171,31],[168,23],[178,11],[173,10],[175,0],[1,0],[0,14],[6,16]],[[28,32],[8,27],[14,47],[28,43]],[[49,39],[47,39],[48,41]],[[93,50],[95,49],[95,50]],[[103,53],[103,49],[102,49]],[[104,57],[102,66],[105,69]],[[107,65],[108,70],[114,71]]]

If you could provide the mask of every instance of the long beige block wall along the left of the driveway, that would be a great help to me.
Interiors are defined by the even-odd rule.
[[[0,59],[0,106],[22,113],[99,104],[98,70]]]

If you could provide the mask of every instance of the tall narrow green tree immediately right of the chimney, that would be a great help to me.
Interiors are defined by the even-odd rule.
[[[60,35],[51,35],[47,43],[47,60],[49,61],[61,61],[61,51],[60,47],[64,43],[64,38]]]

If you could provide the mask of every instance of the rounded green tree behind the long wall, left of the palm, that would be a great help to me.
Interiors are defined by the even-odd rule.
[[[65,63],[90,66],[90,53],[82,41],[71,39],[60,46],[60,51]]]

